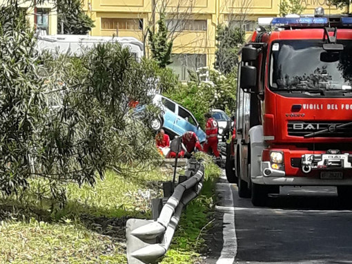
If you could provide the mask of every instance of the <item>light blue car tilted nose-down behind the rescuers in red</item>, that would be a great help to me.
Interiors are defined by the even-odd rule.
[[[153,98],[153,104],[162,109],[162,115],[151,121],[150,126],[155,130],[165,129],[166,133],[173,135],[183,135],[186,131],[196,133],[199,142],[206,140],[206,133],[200,129],[195,117],[176,102],[156,94]]]

